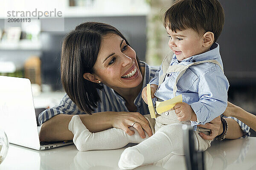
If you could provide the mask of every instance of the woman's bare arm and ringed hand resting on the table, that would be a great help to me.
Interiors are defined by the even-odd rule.
[[[72,140],[73,133],[68,130],[68,124],[73,115],[58,114],[53,116],[41,126],[39,139],[44,141],[63,141]],[[134,128],[138,131],[142,138],[145,138],[143,129],[152,135],[147,119],[137,112],[100,112],[92,115],[79,115],[83,124],[90,132],[99,132],[111,127],[120,128],[128,135],[133,135],[134,131],[130,130],[133,122],[138,122]]]

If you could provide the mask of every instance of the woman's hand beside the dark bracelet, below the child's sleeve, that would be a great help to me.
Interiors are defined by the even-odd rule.
[[[221,116],[216,117],[211,122],[206,123],[205,125],[198,125],[198,126],[199,127],[204,127],[206,129],[210,129],[211,130],[210,135],[206,135],[204,133],[199,133],[199,135],[203,139],[206,139],[206,140],[214,139],[216,136],[221,134],[222,131],[223,131],[223,127],[222,127],[222,124],[221,124]]]

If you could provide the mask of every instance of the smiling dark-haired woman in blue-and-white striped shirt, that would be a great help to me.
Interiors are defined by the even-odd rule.
[[[129,127],[134,125],[141,138],[145,138],[143,130],[151,136],[149,123],[142,116],[149,112],[142,101],[141,90],[158,74],[157,70],[139,62],[136,52],[115,27],[94,22],[80,24],[67,35],[62,46],[61,81],[67,95],[60,105],[39,115],[40,140],[72,140],[68,124],[74,114],[79,114],[90,132],[116,127],[133,135],[135,132]],[[242,132],[245,125],[239,120],[226,120],[227,139],[248,134],[248,128]],[[221,134],[220,124],[217,117],[204,125],[212,133],[201,134],[202,137],[209,140]]]

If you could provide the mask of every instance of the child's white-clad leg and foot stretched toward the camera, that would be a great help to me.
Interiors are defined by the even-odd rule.
[[[159,161],[173,151],[180,150],[183,150],[182,124],[165,125],[147,140],[126,148],[120,156],[118,166],[122,170],[131,170],[142,164]]]

